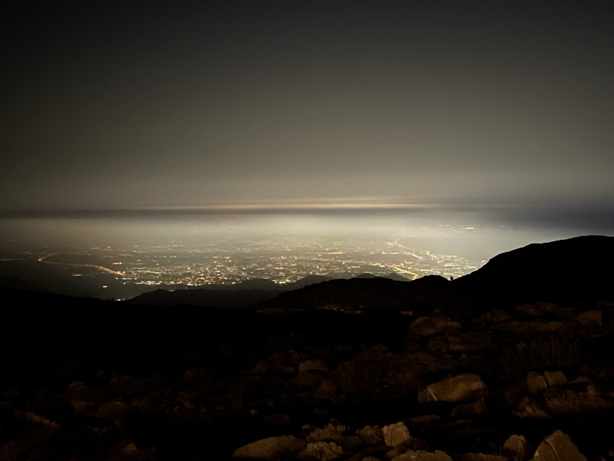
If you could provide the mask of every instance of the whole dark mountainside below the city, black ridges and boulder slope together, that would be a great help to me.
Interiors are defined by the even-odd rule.
[[[166,306],[4,290],[0,460],[611,457],[613,257],[578,237],[250,309],[178,304],[265,282],[147,294]]]

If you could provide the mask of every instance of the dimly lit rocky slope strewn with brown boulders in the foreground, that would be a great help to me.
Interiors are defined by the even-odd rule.
[[[306,315],[267,329],[246,313],[245,341],[209,330],[170,355],[120,332],[149,341],[155,360],[83,342],[70,361],[56,351],[45,366],[13,364],[0,460],[614,459],[610,301]]]

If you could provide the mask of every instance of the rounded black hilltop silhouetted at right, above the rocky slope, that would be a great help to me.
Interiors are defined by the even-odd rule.
[[[585,235],[532,243],[454,280],[466,296],[510,304],[611,298],[614,237]]]

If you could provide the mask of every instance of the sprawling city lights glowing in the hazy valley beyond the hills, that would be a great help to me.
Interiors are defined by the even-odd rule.
[[[87,278],[88,285],[101,289],[122,285],[130,287],[127,293],[132,294],[159,285],[173,289],[234,285],[253,279],[285,285],[308,275],[349,278],[360,274],[385,277],[394,273],[408,280],[431,274],[456,278],[482,264],[461,256],[413,248],[406,240],[341,240],[305,235],[269,235],[258,240],[227,237],[206,245],[175,241],[123,248],[29,248],[4,258],[3,262],[61,269],[66,277]]]

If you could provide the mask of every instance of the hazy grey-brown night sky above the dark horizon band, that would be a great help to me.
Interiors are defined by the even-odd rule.
[[[19,2],[0,208],[614,198],[591,2]]]

